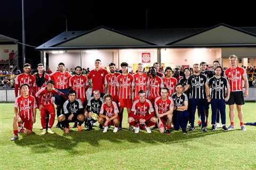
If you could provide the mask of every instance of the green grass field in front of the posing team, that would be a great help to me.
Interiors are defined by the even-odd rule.
[[[244,122],[256,121],[255,110],[256,103],[245,104]],[[167,136],[155,130],[114,134],[112,128],[103,134],[95,128],[65,135],[53,128],[55,134],[41,135],[37,112],[35,133],[15,142],[12,118],[13,104],[0,104],[0,169],[256,169],[256,126],[238,130],[237,116],[237,130],[229,132],[209,127],[206,133],[196,128]]]

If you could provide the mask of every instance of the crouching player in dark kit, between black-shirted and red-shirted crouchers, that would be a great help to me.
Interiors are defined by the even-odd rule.
[[[85,127],[87,130],[92,130],[93,124],[97,122],[100,114],[100,108],[103,103],[104,100],[100,97],[100,90],[94,90],[93,97],[87,102],[86,110],[84,113]],[[99,128],[103,129],[102,125],[100,125]]]

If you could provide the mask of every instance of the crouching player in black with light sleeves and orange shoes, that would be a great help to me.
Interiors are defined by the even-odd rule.
[[[78,122],[77,129],[82,131],[82,124],[84,123],[83,104],[80,99],[76,98],[76,92],[70,90],[68,92],[68,100],[63,104],[64,114],[58,117],[59,122],[64,128],[65,133],[69,133],[69,122]]]

